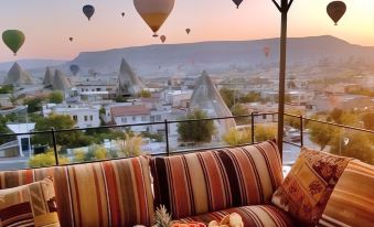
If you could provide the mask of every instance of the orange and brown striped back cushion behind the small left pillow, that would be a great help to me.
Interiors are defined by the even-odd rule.
[[[150,226],[153,201],[146,158],[0,173],[0,187],[55,180],[62,226]]]

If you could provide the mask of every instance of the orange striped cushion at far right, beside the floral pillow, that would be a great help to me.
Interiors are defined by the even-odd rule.
[[[374,166],[360,161],[348,164],[319,224],[321,226],[373,226]]]

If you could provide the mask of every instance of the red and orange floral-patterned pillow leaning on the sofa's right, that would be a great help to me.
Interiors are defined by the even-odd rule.
[[[316,225],[345,166],[352,159],[302,148],[273,203],[303,225]]]

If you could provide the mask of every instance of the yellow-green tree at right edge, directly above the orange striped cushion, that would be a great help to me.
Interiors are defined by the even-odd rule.
[[[345,139],[345,141],[344,141]],[[348,139],[348,140],[346,140]],[[374,149],[367,133],[348,132],[340,133],[331,142],[331,153],[359,159],[368,164],[374,164]]]

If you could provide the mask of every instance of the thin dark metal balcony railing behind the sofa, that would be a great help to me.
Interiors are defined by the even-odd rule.
[[[58,150],[58,142],[57,142],[57,134],[60,133],[73,133],[73,132],[77,132],[77,131],[82,131],[85,132],[87,130],[106,130],[106,129],[117,129],[117,130],[121,130],[124,131],[125,129],[130,129],[132,127],[150,127],[150,126],[159,126],[159,128],[161,128],[162,133],[164,133],[163,136],[163,143],[164,143],[164,151],[163,152],[157,152],[157,153],[150,153],[151,155],[174,155],[174,154],[181,154],[181,153],[189,153],[189,152],[195,152],[195,151],[202,151],[202,150],[210,150],[210,149],[223,149],[223,148],[232,148],[232,147],[236,147],[236,145],[228,145],[228,144],[224,144],[222,141],[216,143],[216,144],[211,144],[211,145],[206,145],[206,144],[200,144],[199,147],[193,147],[193,148],[185,148],[185,147],[181,147],[181,145],[177,145],[174,148],[172,148],[172,145],[170,144],[170,127],[172,125],[178,125],[178,123],[188,123],[188,122],[203,122],[203,121],[218,121],[218,120],[227,120],[227,119],[246,119],[247,125],[245,125],[247,127],[248,130],[250,130],[250,141],[248,143],[241,143],[239,145],[247,145],[247,144],[254,144],[260,141],[256,140],[256,126],[258,122],[256,122],[256,117],[260,117],[260,116],[271,116],[273,117],[273,121],[271,122],[277,122],[277,114],[276,112],[267,112],[267,114],[256,114],[253,112],[252,115],[245,115],[245,116],[235,116],[235,117],[220,117],[220,118],[206,118],[206,119],[197,119],[197,120],[164,120],[164,121],[160,121],[160,122],[147,122],[147,123],[135,123],[135,125],[117,125],[117,126],[103,126],[103,127],[95,127],[95,128],[84,128],[84,129],[61,129],[61,130],[55,130],[53,128],[51,128],[51,130],[47,131],[33,131],[33,132],[26,132],[26,133],[9,133],[9,134],[0,134],[0,139],[3,138],[18,138],[18,137],[22,137],[22,136],[41,136],[43,134],[44,137],[50,137],[52,144],[50,144],[50,147],[53,150],[54,153],[54,165],[62,165],[62,163],[60,162],[60,150]],[[286,114],[285,115],[288,118],[296,118],[299,120],[299,137],[297,139],[297,142],[295,141],[290,141],[287,140],[287,137],[284,139],[284,144],[289,144],[296,148],[301,148],[304,145],[304,126],[306,122],[317,122],[317,123],[322,123],[322,125],[327,125],[327,126],[331,126],[331,127],[338,127],[341,129],[348,129],[348,130],[354,130],[354,131],[360,131],[360,132],[366,132],[366,133],[371,133],[374,136],[374,131],[373,130],[367,130],[367,129],[363,129],[363,128],[357,128],[357,127],[352,127],[352,126],[344,126],[344,125],[339,125],[339,123],[333,123],[333,122],[327,122],[327,121],[321,121],[321,120],[316,120],[316,119],[311,119],[311,118],[306,118],[303,116],[297,116],[297,115],[289,115]],[[267,121],[269,122],[269,121]],[[276,138],[276,137],[275,137]],[[1,148],[0,148],[1,149]],[[21,149],[21,148],[20,148]],[[1,150],[0,150],[1,152]],[[29,156],[32,155],[32,152],[30,151]],[[282,154],[280,154],[282,155]],[[17,160],[17,158],[13,158]],[[113,159],[121,159],[121,158],[113,158]],[[8,159],[6,158],[0,158],[0,165],[2,161],[7,161]],[[95,161],[89,161],[89,162],[96,162],[96,161],[101,161],[105,159],[100,159],[100,160],[95,160]],[[110,159],[111,160],[111,159]],[[84,161],[83,161],[84,162]],[[67,163],[67,164],[75,164],[77,162],[74,163]],[[85,162],[84,162],[85,163]],[[66,164],[66,163],[63,163]],[[288,163],[290,164],[290,163]],[[15,169],[24,169],[28,166],[23,166],[23,167],[15,167]],[[14,167],[13,167],[14,169]]]

